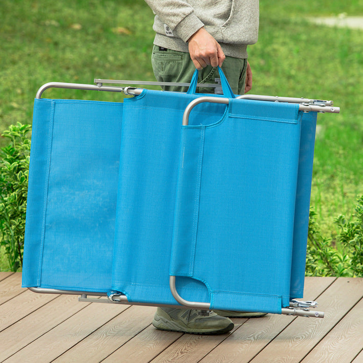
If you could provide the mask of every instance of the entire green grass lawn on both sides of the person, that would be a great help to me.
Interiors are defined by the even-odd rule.
[[[363,194],[363,31],[317,26],[313,16],[363,16],[363,1],[260,1],[260,36],[249,48],[253,94],[332,99],[318,116],[311,205],[326,236]],[[37,89],[50,81],[154,80],[153,13],[142,0],[2,0],[0,132],[31,123]],[[120,100],[119,93],[46,91],[44,97]],[[0,140],[0,146],[4,145]]]

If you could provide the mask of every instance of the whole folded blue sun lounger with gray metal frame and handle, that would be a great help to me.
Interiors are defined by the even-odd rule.
[[[323,316],[294,299],[304,289],[316,113],[339,109],[236,97],[220,75],[218,96],[195,93],[197,73],[187,93],[100,82],[39,90],[23,287]],[[134,97],[41,98],[50,87]]]

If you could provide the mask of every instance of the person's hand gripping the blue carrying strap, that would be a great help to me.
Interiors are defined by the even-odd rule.
[[[221,46],[204,28],[200,28],[188,39],[190,58],[198,70],[210,65],[222,66],[226,56]]]

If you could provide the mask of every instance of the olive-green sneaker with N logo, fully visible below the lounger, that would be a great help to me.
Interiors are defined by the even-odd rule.
[[[153,325],[160,330],[179,331],[191,334],[223,334],[233,329],[228,317],[210,312],[205,316],[199,310],[158,308]]]

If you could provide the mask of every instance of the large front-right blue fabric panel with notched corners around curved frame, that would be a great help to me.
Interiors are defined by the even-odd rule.
[[[276,296],[289,305],[301,117],[298,105],[231,100],[221,122],[183,127],[191,142],[181,147],[176,216],[183,218],[175,222],[170,274],[205,282],[212,296],[224,291],[226,303],[230,291],[224,308],[247,308],[250,294],[271,296],[270,312]],[[198,175],[200,186],[185,182]],[[188,227],[196,215],[195,234]]]

